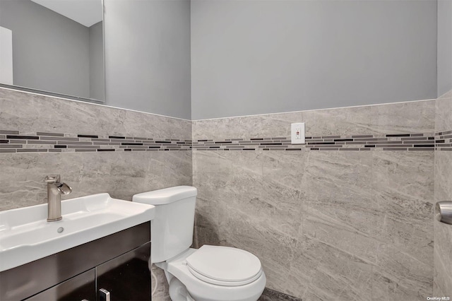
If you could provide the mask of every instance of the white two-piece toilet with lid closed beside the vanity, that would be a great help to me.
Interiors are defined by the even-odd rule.
[[[150,262],[165,271],[173,301],[256,301],[266,286],[261,261],[250,252],[193,242],[195,187],[143,192],[133,201],[155,206]]]

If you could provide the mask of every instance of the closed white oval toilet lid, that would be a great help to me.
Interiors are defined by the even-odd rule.
[[[186,258],[196,278],[218,285],[244,285],[261,276],[261,261],[242,249],[204,244]]]

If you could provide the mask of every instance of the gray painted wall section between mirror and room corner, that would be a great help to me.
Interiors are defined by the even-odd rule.
[[[107,105],[191,118],[190,2],[105,0]]]

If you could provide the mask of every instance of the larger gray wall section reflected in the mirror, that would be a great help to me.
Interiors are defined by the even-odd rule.
[[[89,98],[88,28],[30,0],[1,0],[13,30],[13,83]]]

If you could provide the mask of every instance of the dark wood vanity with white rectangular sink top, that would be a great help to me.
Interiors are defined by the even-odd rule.
[[[136,206],[138,205],[138,206]],[[150,300],[154,206],[95,194],[0,212],[0,300]]]

